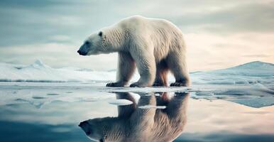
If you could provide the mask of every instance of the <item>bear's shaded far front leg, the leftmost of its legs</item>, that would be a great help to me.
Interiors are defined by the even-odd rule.
[[[136,63],[131,57],[130,53],[118,53],[118,70],[116,75],[116,82],[106,84],[106,87],[124,87],[131,79],[134,70],[136,69]]]

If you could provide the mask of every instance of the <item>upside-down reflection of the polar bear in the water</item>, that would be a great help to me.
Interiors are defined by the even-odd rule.
[[[131,105],[118,107],[118,117],[82,121],[80,127],[95,141],[173,141],[186,123],[188,94],[176,93],[168,98],[141,95],[138,104],[127,92],[116,93],[117,99],[128,99]],[[144,105],[165,105],[165,109],[139,109]]]

